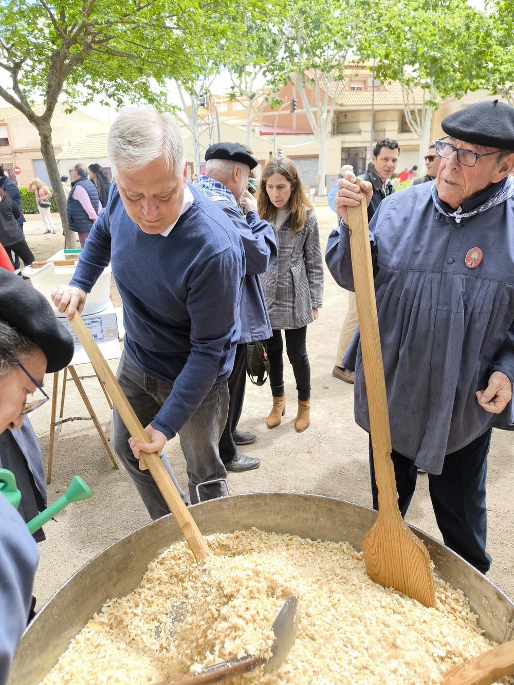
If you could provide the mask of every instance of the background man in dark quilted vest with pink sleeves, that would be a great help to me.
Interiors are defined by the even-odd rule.
[[[86,166],[75,164],[71,170],[71,190],[66,204],[66,213],[69,229],[79,234],[80,247],[84,247],[84,242],[98,219],[100,210],[97,186],[88,179]]]

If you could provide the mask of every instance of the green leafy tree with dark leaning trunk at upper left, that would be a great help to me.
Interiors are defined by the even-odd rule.
[[[101,103],[166,101],[167,77],[201,72],[201,54],[224,35],[228,0],[10,0],[0,7],[0,96],[36,127],[56,196],[66,245],[66,197],[53,153],[58,99],[69,110]],[[224,20],[223,20],[224,21]],[[197,50],[201,45],[202,50]],[[45,110],[32,105],[40,98]]]

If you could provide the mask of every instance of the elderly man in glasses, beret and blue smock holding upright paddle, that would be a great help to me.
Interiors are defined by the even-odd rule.
[[[391,458],[402,514],[424,469],[445,544],[485,573],[491,429],[513,423],[514,109],[476,103],[441,126],[435,184],[384,199],[369,225]],[[369,203],[371,185],[362,190],[364,200],[351,174],[339,181],[341,224],[326,251],[349,290],[347,207]],[[356,422],[369,432],[358,334],[345,365],[355,369]]]

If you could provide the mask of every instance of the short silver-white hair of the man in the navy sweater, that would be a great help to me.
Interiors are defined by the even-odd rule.
[[[113,175],[118,169],[137,173],[158,158],[169,171],[180,174],[186,162],[184,138],[168,113],[148,107],[127,107],[111,126],[107,154]]]

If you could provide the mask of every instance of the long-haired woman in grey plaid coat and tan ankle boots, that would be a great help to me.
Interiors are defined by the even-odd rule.
[[[295,429],[310,423],[310,364],[307,356],[307,325],[318,318],[323,300],[323,262],[316,214],[304,193],[298,171],[286,158],[265,166],[257,192],[258,213],[276,234],[278,258],[261,274],[273,336],[267,340],[271,364],[269,380],[273,408],[267,427],[280,425],[286,413],[282,329],[286,351],[293,366],[298,391]]]

